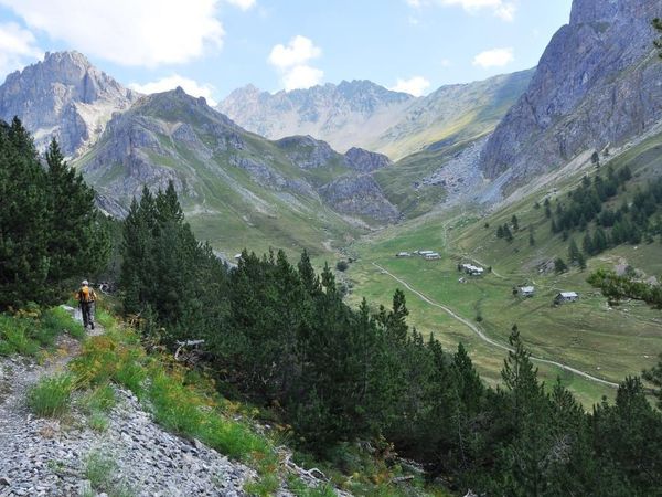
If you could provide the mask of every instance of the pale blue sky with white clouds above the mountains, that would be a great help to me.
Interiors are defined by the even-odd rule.
[[[213,105],[371,80],[425,95],[537,64],[572,0],[0,0],[0,82],[77,50],[143,93]]]

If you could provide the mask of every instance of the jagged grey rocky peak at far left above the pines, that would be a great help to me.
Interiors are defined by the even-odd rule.
[[[137,98],[83,54],[46,53],[43,62],[7,76],[0,86],[0,118],[19,116],[38,148],[55,137],[72,156],[102,134],[114,112]]]

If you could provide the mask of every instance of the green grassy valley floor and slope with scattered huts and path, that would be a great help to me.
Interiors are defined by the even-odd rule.
[[[655,135],[601,166],[604,171],[609,166],[618,169],[627,163],[633,171],[627,190],[610,204],[623,201],[638,187],[659,176],[661,149],[662,136]],[[585,162],[553,187],[528,192],[493,212],[474,207],[430,213],[351,245],[348,254],[357,261],[350,264],[346,274],[352,285],[350,300],[357,305],[365,297],[388,306],[395,289],[402,288],[412,325],[425,336],[434,334],[447,350],[453,350],[462,341],[483,378],[492,383],[500,382],[506,356],[503,348],[508,346],[511,327],[516,324],[533,357],[558,361],[601,380],[536,362],[547,385],[553,385],[559,377],[587,409],[602,395],[612,398],[615,388],[604,382],[619,382],[628,374],[639,374],[654,366],[662,350],[662,317],[659,310],[638,302],[609,307],[586,278],[597,268],[626,265],[659,275],[662,250],[656,237],[652,243],[608,250],[590,258],[586,271],[572,267],[564,274],[541,272],[540,267],[548,266],[554,258],[567,258],[569,240],[563,241],[560,234],[552,233],[543,209],[536,209],[535,204],[542,204],[548,194],[553,201],[563,200],[585,173],[595,175],[595,167]],[[509,223],[513,214],[520,229],[509,243],[496,237],[495,229]],[[533,226],[534,245],[530,244],[528,226]],[[584,233],[570,233],[578,243],[581,236]],[[395,257],[399,252],[417,250],[437,251],[441,260]],[[458,272],[458,264],[466,262],[491,266],[492,272],[481,277],[466,276]],[[459,283],[461,277],[467,283]],[[409,289],[396,278],[407,283]],[[513,295],[513,288],[525,285],[535,287],[534,297]],[[566,290],[577,292],[579,300],[554,306],[555,296]],[[439,306],[469,321],[498,346],[480,339],[467,324]]]

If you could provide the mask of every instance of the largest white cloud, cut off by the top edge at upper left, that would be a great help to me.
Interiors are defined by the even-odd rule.
[[[220,49],[220,0],[0,0],[31,30],[121,65],[184,63]],[[239,1],[239,0],[237,0]]]

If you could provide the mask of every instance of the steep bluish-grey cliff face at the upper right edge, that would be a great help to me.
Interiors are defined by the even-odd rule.
[[[651,19],[659,0],[575,0],[528,89],[488,141],[480,167],[512,184],[586,150],[620,145],[662,118],[662,64]],[[508,188],[508,187],[506,187]]]

